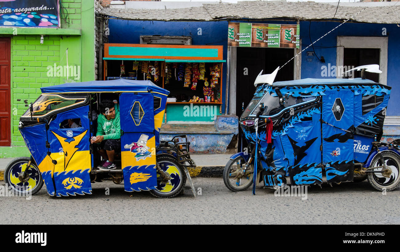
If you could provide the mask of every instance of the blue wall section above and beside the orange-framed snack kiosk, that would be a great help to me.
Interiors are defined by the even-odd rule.
[[[110,19],[110,43],[140,44],[140,36],[190,36],[192,45],[224,46],[228,52],[228,22],[164,22]],[[202,35],[198,35],[198,28]],[[222,111],[225,111],[226,63],[222,65]],[[224,113],[224,112],[223,112]]]

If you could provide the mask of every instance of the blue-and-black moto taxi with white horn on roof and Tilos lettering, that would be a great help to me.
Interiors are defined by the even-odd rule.
[[[249,145],[225,167],[228,189],[261,181],[271,188],[288,181],[321,185],[323,174],[331,185],[365,179],[377,190],[400,185],[400,141],[380,142],[390,87],[364,77],[273,82],[276,71],[257,77],[240,117]]]

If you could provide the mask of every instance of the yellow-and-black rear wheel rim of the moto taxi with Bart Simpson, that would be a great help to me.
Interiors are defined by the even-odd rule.
[[[171,177],[168,182],[164,181],[165,183],[163,183],[160,178],[161,175],[157,173],[157,192],[160,194],[174,193],[180,188],[180,185],[182,184],[183,175],[181,174],[180,169],[176,167],[176,164],[169,161],[162,161],[157,165],[160,165],[162,171],[164,171],[164,173]]]

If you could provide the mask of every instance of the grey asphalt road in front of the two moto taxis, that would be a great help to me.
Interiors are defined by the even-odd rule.
[[[307,199],[274,196],[274,190],[230,192],[222,178],[194,178],[202,195],[159,199],[125,192],[111,181],[93,194],[48,198],[45,187],[31,200],[0,197],[1,224],[400,224],[400,189],[382,195],[367,181],[308,188]],[[4,186],[4,181],[0,182]],[[105,188],[110,195],[105,195]]]

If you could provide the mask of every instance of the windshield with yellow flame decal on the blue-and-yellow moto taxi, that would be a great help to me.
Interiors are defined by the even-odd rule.
[[[85,98],[66,98],[60,95],[40,95],[33,103],[33,116],[43,116],[52,111],[83,103]],[[24,115],[30,117],[30,109]]]

